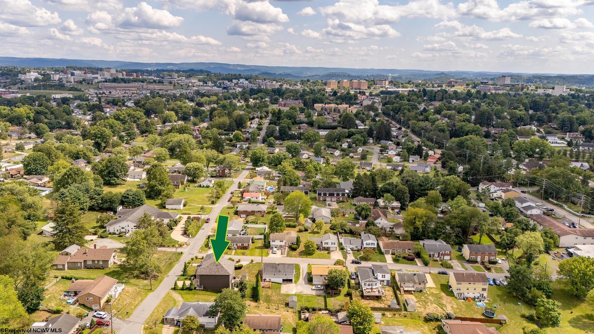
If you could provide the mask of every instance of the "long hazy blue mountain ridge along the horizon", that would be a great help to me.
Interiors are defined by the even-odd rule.
[[[486,78],[503,74],[511,75],[559,75],[553,73],[510,73],[510,72],[489,72],[489,71],[428,71],[428,70],[403,70],[395,68],[345,68],[345,67],[293,67],[293,66],[265,66],[265,65],[243,65],[225,64],[219,62],[129,62],[129,61],[106,61],[92,59],[53,59],[53,58],[17,58],[0,57],[0,65],[14,65],[23,67],[66,67],[66,66],[87,66],[87,67],[112,67],[122,69],[159,69],[159,70],[207,70],[215,73],[237,73],[237,74],[274,74],[281,77],[315,77],[318,75],[340,77],[346,76],[369,76],[388,75],[393,77],[407,78],[432,78],[451,76],[455,78]]]

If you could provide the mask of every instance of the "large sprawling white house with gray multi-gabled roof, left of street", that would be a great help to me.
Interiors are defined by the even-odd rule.
[[[116,215],[117,219],[111,220],[105,225],[105,228],[109,234],[131,234],[136,231],[136,223],[145,213],[148,213],[151,219],[161,219],[164,223],[168,223],[169,220],[177,218],[179,213],[176,212],[165,212],[152,207],[148,204],[135,207],[134,209],[119,209]]]

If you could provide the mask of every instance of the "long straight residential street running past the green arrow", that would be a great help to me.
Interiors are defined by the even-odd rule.
[[[244,169],[244,171],[239,175],[237,179],[243,180],[248,175],[249,170],[251,169],[251,164]],[[217,216],[223,209],[223,207],[227,206],[228,199],[231,196],[231,191],[238,190],[237,184],[233,182],[229,190],[220,198],[219,202],[213,206],[213,210],[207,216],[210,218],[210,223],[205,223],[204,226],[200,229],[196,237],[190,240],[190,244],[187,247],[186,251],[182,255],[181,259],[179,259],[178,263],[175,264],[173,269],[169,273],[162,273],[162,275],[166,275],[165,279],[157,286],[153,292],[151,292],[140,305],[136,308],[132,316],[129,319],[124,319],[125,326],[122,328],[122,333],[141,333],[143,329],[143,324],[153,313],[154,308],[157,307],[157,304],[165,297],[165,294],[169,291],[169,289],[175,283],[177,276],[182,274],[182,270],[184,269],[184,262],[188,261],[191,257],[197,254],[198,249],[201,245],[204,244],[204,241],[208,237],[211,228],[214,226],[214,221],[216,220]],[[116,310],[117,311],[117,310]],[[117,313],[115,314],[117,316]]]

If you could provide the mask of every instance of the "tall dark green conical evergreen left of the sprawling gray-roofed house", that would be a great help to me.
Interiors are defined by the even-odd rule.
[[[54,213],[53,244],[58,249],[69,245],[82,246],[86,244],[84,236],[89,232],[80,221],[81,212],[78,207],[68,202],[58,204]]]

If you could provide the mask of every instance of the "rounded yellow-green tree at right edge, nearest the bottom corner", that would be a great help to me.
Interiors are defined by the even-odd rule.
[[[586,297],[594,288],[594,259],[572,257],[559,263],[557,275],[576,297]]]

